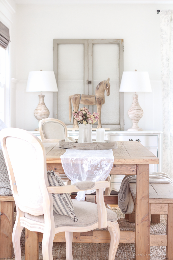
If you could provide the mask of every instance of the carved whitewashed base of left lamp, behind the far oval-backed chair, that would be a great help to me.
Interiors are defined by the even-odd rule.
[[[34,116],[37,118],[37,120],[39,122],[41,119],[48,118],[50,112],[44,103],[44,95],[42,95],[42,92],[41,92],[41,95],[38,95],[38,96],[39,96],[40,100],[39,100],[37,108],[34,110]],[[36,128],[34,131],[39,131],[39,129]]]

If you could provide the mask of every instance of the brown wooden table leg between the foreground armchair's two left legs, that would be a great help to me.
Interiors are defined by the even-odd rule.
[[[25,229],[25,260],[39,260],[38,232]]]

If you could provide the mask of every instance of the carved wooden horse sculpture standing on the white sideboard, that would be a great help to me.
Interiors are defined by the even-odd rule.
[[[95,95],[84,95],[84,94],[74,94],[69,96],[69,119],[71,122],[72,118],[72,103],[74,110],[77,111],[79,109],[79,104],[83,105],[97,105],[97,113],[99,113],[99,120],[98,120],[98,126],[97,128],[102,128],[101,126],[101,106],[105,104],[105,90],[106,95],[110,95],[110,83],[109,78],[107,80],[103,80],[100,82],[96,89],[95,89]],[[72,100],[72,103],[71,103]],[[78,122],[76,120],[73,120],[73,128],[79,128]]]

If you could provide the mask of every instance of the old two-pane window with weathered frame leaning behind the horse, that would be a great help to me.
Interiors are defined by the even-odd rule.
[[[105,92],[105,104],[101,108],[102,127],[124,130],[124,96],[119,92],[123,40],[54,40],[53,52],[58,85],[58,92],[53,93],[53,117],[72,126],[73,118],[71,122],[68,119],[68,97],[74,94],[95,95],[98,83],[110,78],[110,95]],[[79,109],[83,106],[86,105],[80,104]],[[91,113],[97,112],[96,105],[86,107]]]

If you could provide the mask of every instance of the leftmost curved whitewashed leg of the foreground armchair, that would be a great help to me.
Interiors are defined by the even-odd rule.
[[[13,228],[12,234],[12,241],[13,241],[13,248],[15,252],[15,259],[21,260],[21,249],[20,249],[20,236],[23,230],[23,227],[20,226],[20,217],[24,217],[24,213],[17,209],[16,207],[16,221]]]

